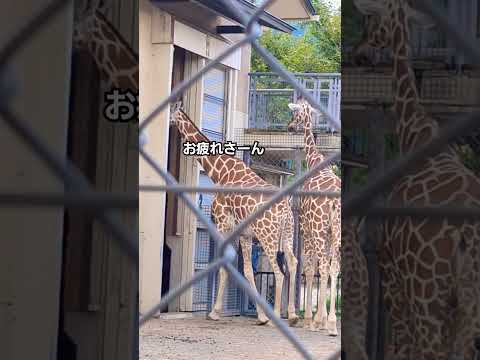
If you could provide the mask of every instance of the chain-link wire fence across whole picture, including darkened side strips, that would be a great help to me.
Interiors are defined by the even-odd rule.
[[[340,153],[337,153],[329,158],[327,158],[322,163],[316,165],[314,168],[306,172],[300,178],[298,178],[294,183],[289,186],[282,188],[281,190],[272,193],[272,197],[268,202],[261,206],[254,214],[248,217],[244,222],[238,224],[232,233],[227,237],[223,237],[217,231],[214,224],[207,219],[202,213],[201,210],[191,201],[191,199],[186,195],[187,189],[182,189],[178,185],[175,179],[161,166],[159,166],[155,159],[153,159],[148,153],[143,150],[143,146],[146,144],[146,136],[143,133],[143,130],[153,121],[155,116],[163,111],[168,104],[176,99],[183,91],[185,91],[189,86],[194,82],[198,81],[203,74],[215,66],[221,59],[226,58],[232,54],[239,47],[252,44],[252,46],[257,50],[259,54],[265,59],[266,62],[272,67],[272,69],[282,76],[286,81],[288,81],[292,87],[302,94],[313,107],[320,110],[329,125],[337,131],[340,131],[340,124],[332,119],[328,114],[327,109],[325,109],[321,104],[317,103],[313,99],[307,89],[305,89],[301,84],[299,84],[294,76],[284,69],[282,65],[278,63],[276,59],[272,57],[263,47],[261,47],[256,39],[261,34],[260,26],[257,22],[259,14],[263,11],[268,5],[273,1],[266,1],[262,3],[259,9],[251,16],[244,14],[237,6],[235,1],[232,0],[219,0],[229,6],[233,11],[235,11],[242,19],[243,24],[246,26],[246,36],[228,48],[225,52],[217,57],[217,59],[211,61],[206,65],[201,71],[195,74],[190,79],[184,81],[179,86],[177,86],[171,93],[171,95],[161,101],[159,106],[148,115],[140,125],[140,139],[139,139],[139,152],[140,155],[158,172],[158,174],[165,180],[166,186],[159,189],[146,189],[140,187],[140,191],[174,191],[185,201],[187,206],[198,216],[198,219],[202,221],[206,228],[208,229],[212,238],[217,242],[218,246],[221,249],[221,256],[215,259],[210,263],[207,268],[197,274],[195,274],[192,279],[180,287],[170,291],[166,294],[161,302],[152,308],[150,311],[145,313],[139,320],[140,326],[144,324],[149,318],[151,318],[161,307],[168,304],[172,299],[179,296],[181,293],[186,291],[190,286],[195,282],[201,280],[202,278],[208,276],[210,273],[218,270],[220,267],[224,267],[231,278],[237,282],[237,284],[243,288],[243,290],[255,300],[259,306],[265,311],[267,316],[275,323],[279,330],[287,337],[287,339],[295,346],[295,348],[302,354],[305,359],[313,359],[312,355],[308,349],[299,341],[298,337],[273,313],[271,307],[266,303],[266,301],[259,297],[254,289],[251,288],[249,283],[243,278],[243,276],[234,268],[231,264],[231,261],[235,258],[235,250],[233,249],[231,243],[233,240],[258,217],[262,212],[264,212],[268,207],[270,207],[275,202],[278,202],[280,199],[286,195],[292,194],[296,189],[301,186],[301,184],[311,176],[315,175],[323,167],[328,166],[332,161],[337,161],[340,159]],[[89,185],[86,178],[74,168],[74,165],[70,162],[65,162],[62,155],[58,154],[54,149],[52,149],[49,144],[41,140],[41,138],[34,132],[32,128],[27,126],[20,118],[18,118],[9,105],[9,100],[12,96],[16,95],[15,92],[15,83],[14,79],[9,77],[10,72],[7,70],[7,65],[12,59],[13,55],[22,48],[25,43],[32,38],[32,36],[40,31],[41,28],[46,25],[49,20],[55,16],[61,9],[63,9],[69,0],[54,0],[52,3],[47,6],[44,10],[35,16],[31,21],[22,28],[16,35],[12,37],[10,41],[1,49],[0,51],[0,116],[3,121],[28,145],[30,148],[49,166],[52,173],[54,173],[58,178],[63,180],[68,189],[66,193],[59,194],[45,194],[45,193],[35,193],[35,194],[3,194],[0,197],[5,200],[1,202],[3,207],[8,206],[71,206],[71,207],[84,207],[88,208],[96,217],[96,219],[102,223],[106,229],[112,232],[115,239],[122,246],[124,251],[126,251],[132,260],[138,266],[138,234],[129,232],[123,224],[119,221],[119,218],[108,211],[112,208],[122,208],[122,207],[138,207],[138,198],[132,195],[120,195],[120,194],[103,194],[95,192],[92,187]],[[473,44],[469,44],[465,37],[463,37],[455,28],[455,26],[450,23],[445,14],[442,13],[442,10],[439,10],[428,0],[418,0],[416,2],[417,6],[421,7],[422,10],[428,12],[432,18],[438,23],[447,34],[450,36],[453,41],[458,44],[459,47],[463,48],[469,55],[471,55],[477,62],[480,63],[480,52],[479,49],[475,48]],[[415,165],[416,162],[424,159],[426,156],[432,155],[437,152],[439,149],[444,147],[449,142],[453,141],[457,137],[468,134],[468,131],[473,129],[476,125],[478,114],[467,116],[455,125],[451,125],[448,128],[444,129],[440,135],[433,140],[431,143],[423,146],[418,149],[415,153],[399,160],[395,166],[390,170],[386,171],[381,175],[376,181],[372,181],[368,186],[365,187],[363,191],[355,195],[351,199],[348,199],[343,208],[344,215],[372,215],[372,216],[410,216],[410,215],[425,215],[425,216],[452,216],[456,215],[459,209],[430,209],[430,208],[373,208],[372,199],[375,198],[382,190],[390,186],[398,178],[399,175],[407,171],[411,166]],[[217,191],[218,189],[213,188],[212,191]],[[197,189],[189,189],[189,191],[197,191]],[[205,191],[205,189],[202,189]],[[223,192],[238,192],[238,189],[223,189]],[[242,190],[243,191],[243,190]],[[102,201],[100,201],[102,200]],[[98,206],[102,203],[102,206]],[[480,217],[480,212],[478,209],[463,209],[464,216],[478,218]],[[135,335],[135,338],[137,335]],[[133,339],[132,339],[133,340]],[[136,341],[135,341],[136,342]],[[340,357],[340,352],[331,354],[330,359],[338,359]]]

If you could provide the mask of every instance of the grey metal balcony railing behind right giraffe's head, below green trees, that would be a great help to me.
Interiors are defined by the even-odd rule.
[[[249,128],[285,131],[291,120],[288,103],[297,101],[300,95],[298,89],[277,73],[257,72],[250,73],[249,76]],[[340,123],[340,74],[296,73],[294,76],[327,109],[328,114]],[[324,116],[314,116],[314,131],[331,128]]]

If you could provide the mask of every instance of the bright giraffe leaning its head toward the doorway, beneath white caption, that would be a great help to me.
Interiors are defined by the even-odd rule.
[[[172,122],[178,128],[185,141],[199,143],[208,142],[198,127],[179,107],[172,112]],[[223,186],[241,186],[255,188],[273,188],[273,186],[253,172],[242,160],[225,154],[198,156],[197,161],[215,183]],[[212,216],[222,234],[230,232],[235,224],[240,223],[259,206],[268,200],[263,194],[218,194],[212,203]],[[252,266],[252,239],[255,236],[260,242],[275,276],[274,311],[280,316],[280,303],[284,275],[277,261],[278,251],[283,250],[290,274],[288,296],[288,319],[294,325],[298,319],[295,313],[295,275],[297,259],[293,253],[293,214],[289,199],[273,205],[260,215],[240,236],[240,247],[243,254],[244,274],[256,289]],[[280,245],[279,245],[280,242]],[[278,262],[278,263],[277,263]],[[225,269],[219,270],[220,280],[217,299],[212,311],[208,314],[210,320],[218,320],[223,306],[223,295],[228,274]],[[258,323],[269,323],[264,311],[257,306]],[[270,323],[269,323],[270,324]]]

